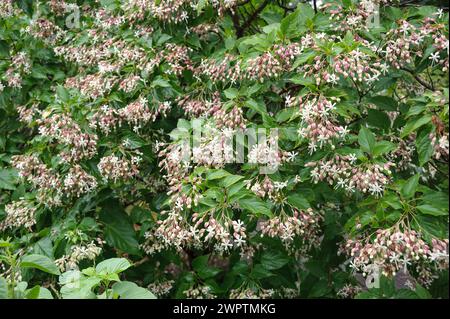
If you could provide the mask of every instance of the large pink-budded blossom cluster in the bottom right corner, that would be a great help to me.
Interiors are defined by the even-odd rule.
[[[430,246],[420,233],[409,229],[379,229],[375,238],[347,240],[343,251],[350,256],[351,267],[364,276],[374,271],[395,276],[409,270],[429,286],[434,279],[432,267],[448,269],[448,239],[433,239]]]

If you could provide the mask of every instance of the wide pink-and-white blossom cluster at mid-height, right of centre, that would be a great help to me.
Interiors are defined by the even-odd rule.
[[[384,164],[355,165],[354,155],[335,155],[330,160],[322,159],[309,162],[306,166],[313,167],[312,180],[327,182],[335,188],[345,189],[347,192],[358,190],[380,196],[384,187],[391,181],[390,162]]]

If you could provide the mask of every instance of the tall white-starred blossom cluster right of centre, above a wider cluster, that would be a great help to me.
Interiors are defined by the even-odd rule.
[[[323,97],[303,100],[302,98],[286,98],[288,106],[300,104],[299,114],[301,127],[298,129],[300,137],[309,141],[309,152],[312,154],[317,147],[326,144],[333,145],[333,141],[347,135],[346,127],[339,125],[335,119],[335,105]]]

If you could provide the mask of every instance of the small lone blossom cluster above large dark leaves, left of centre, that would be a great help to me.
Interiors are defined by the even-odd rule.
[[[140,158],[133,156],[131,160],[116,155],[102,157],[98,163],[98,170],[105,180],[114,183],[131,179],[139,174]]]

